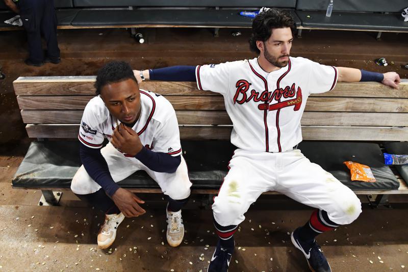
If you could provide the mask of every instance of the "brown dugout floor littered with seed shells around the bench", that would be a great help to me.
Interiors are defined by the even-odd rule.
[[[129,61],[140,69],[254,57],[248,50],[248,30],[241,30],[238,37],[232,37],[230,30],[221,30],[220,37],[206,29],[142,32],[145,44],[136,43],[123,29],[61,30],[61,64],[42,67],[23,64],[27,57],[24,32],[0,32],[0,63],[7,76],[0,81],[0,271],[207,269],[216,237],[211,210],[198,208],[199,196],[194,196],[183,212],[187,233],[179,248],[170,248],[162,233],[166,227],[162,196],[144,194],[147,214],[122,222],[109,253],[96,249],[97,224],[103,215],[84,207],[72,193],[64,192],[59,207],[39,207],[40,191],[10,186],[30,142],[12,89],[18,76],[96,75],[101,65],[113,59]],[[408,63],[406,33],[383,33],[381,41],[367,32],[303,31],[302,36],[295,38],[292,56],[378,72],[395,70],[401,78],[408,78],[408,70],[403,68]],[[385,57],[390,65],[377,66],[373,60],[379,57]],[[362,201],[366,202],[364,197]],[[407,269],[408,199],[393,196],[391,202],[392,209],[372,210],[365,204],[353,224],[318,238],[334,271]],[[308,271],[287,233],[303,225],[311,211],[285,196],[262,196],[235,236],[237,247],[230,271]]]

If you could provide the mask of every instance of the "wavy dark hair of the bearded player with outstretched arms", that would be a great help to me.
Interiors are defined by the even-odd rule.
[[[249,38],[249,48],[252,52],[261,53],[257,41],[267,41],[272,34],[272,29],[295,29],[295,20],[292,15],[284,10],[269,9],[261,12],[252,21],[252,34]]]

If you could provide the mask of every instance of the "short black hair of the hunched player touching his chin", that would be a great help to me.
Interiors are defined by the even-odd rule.
[[[132,67],[124,61],[111,61],[99,69],[95,81],[95,93],[100,94],[100,89],[107,84],[132,79],[137,83]]]

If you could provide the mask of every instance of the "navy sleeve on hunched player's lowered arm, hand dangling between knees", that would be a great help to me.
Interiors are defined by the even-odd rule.
[[[81,144],[80,157],[88,175],[99,184],[109,196],[112,196],[116,190],[119,189],[119,185],[113,181],[111,173],[109,172],[108,163],[102,154],[100,154],[100,149],[91,149]]]

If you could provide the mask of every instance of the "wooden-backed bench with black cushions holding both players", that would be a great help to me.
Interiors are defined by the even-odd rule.
[[[13,188],[41,189],[51,204],[58,203],[53,191],[70,189],[81,165],[77,136],[83,109],[94,96],[94,81],[20,77],[13,82],[27,133],[38,139],[19,166]],[[192,82],[144,81],[140,87],[164,95],[176,111],[192,193],[216,194],[235,149],[223,97],[200,91]],[[338,83],[334,90],[308,98],[301,125],[302,153],[356,194],[368,195],[373,206],[386,204],[389,194],[408,193],[408,166],[384,165],[379,145],[386,143],[389,153],[408,152],[408,82],[398,90],[374,82]],[[343,164],[348,160],[369,165],[377,181],[351,181]],[[133,192],[161,192],[144,171],[119,184]]]

